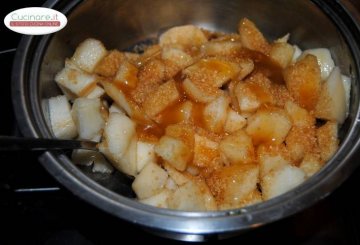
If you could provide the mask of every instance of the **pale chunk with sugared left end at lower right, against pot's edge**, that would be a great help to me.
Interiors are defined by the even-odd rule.
[[[304,171],[291,165],[271,171],[261,180],[264,200],[269,200],[297,187],[305,181],[305,177]]]

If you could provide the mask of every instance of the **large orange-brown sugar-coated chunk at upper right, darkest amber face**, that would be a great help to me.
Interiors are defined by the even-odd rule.
[[[307,110],[314,110],[321,89],[320,67],[315,56],[304,58],[284,70],[284,80],[290,94]]]

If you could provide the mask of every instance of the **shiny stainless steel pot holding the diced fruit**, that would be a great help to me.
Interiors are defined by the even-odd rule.
[[[268,38],[291,33],[291,43],[303,49],[326,47],[336,64],[352,78],[350,115],[341,129],[341,146],[315,176],[293,191],[254,206],[218,212],[181,212],[143,205],[133,199],[130,183],[117,173],[108,178],[74,166],[61,152],[46,152],[44,167],[77,196],[122,219],[158,234],[182,240],[252,229],[287,217],[312,205],[338,187],[354,170],[359,145],[360,30],[348,1],[321,0],[50,0],[45,6],[68,16],[68,25],[48,36],[24,36],[13,67],[13,102],[24,135],[52,137],[44,99],[59,94],[54,75],[86,37],[106,47],[126,49],[156,37],[165,28],[193,23],[234,32],[248,17]]]

